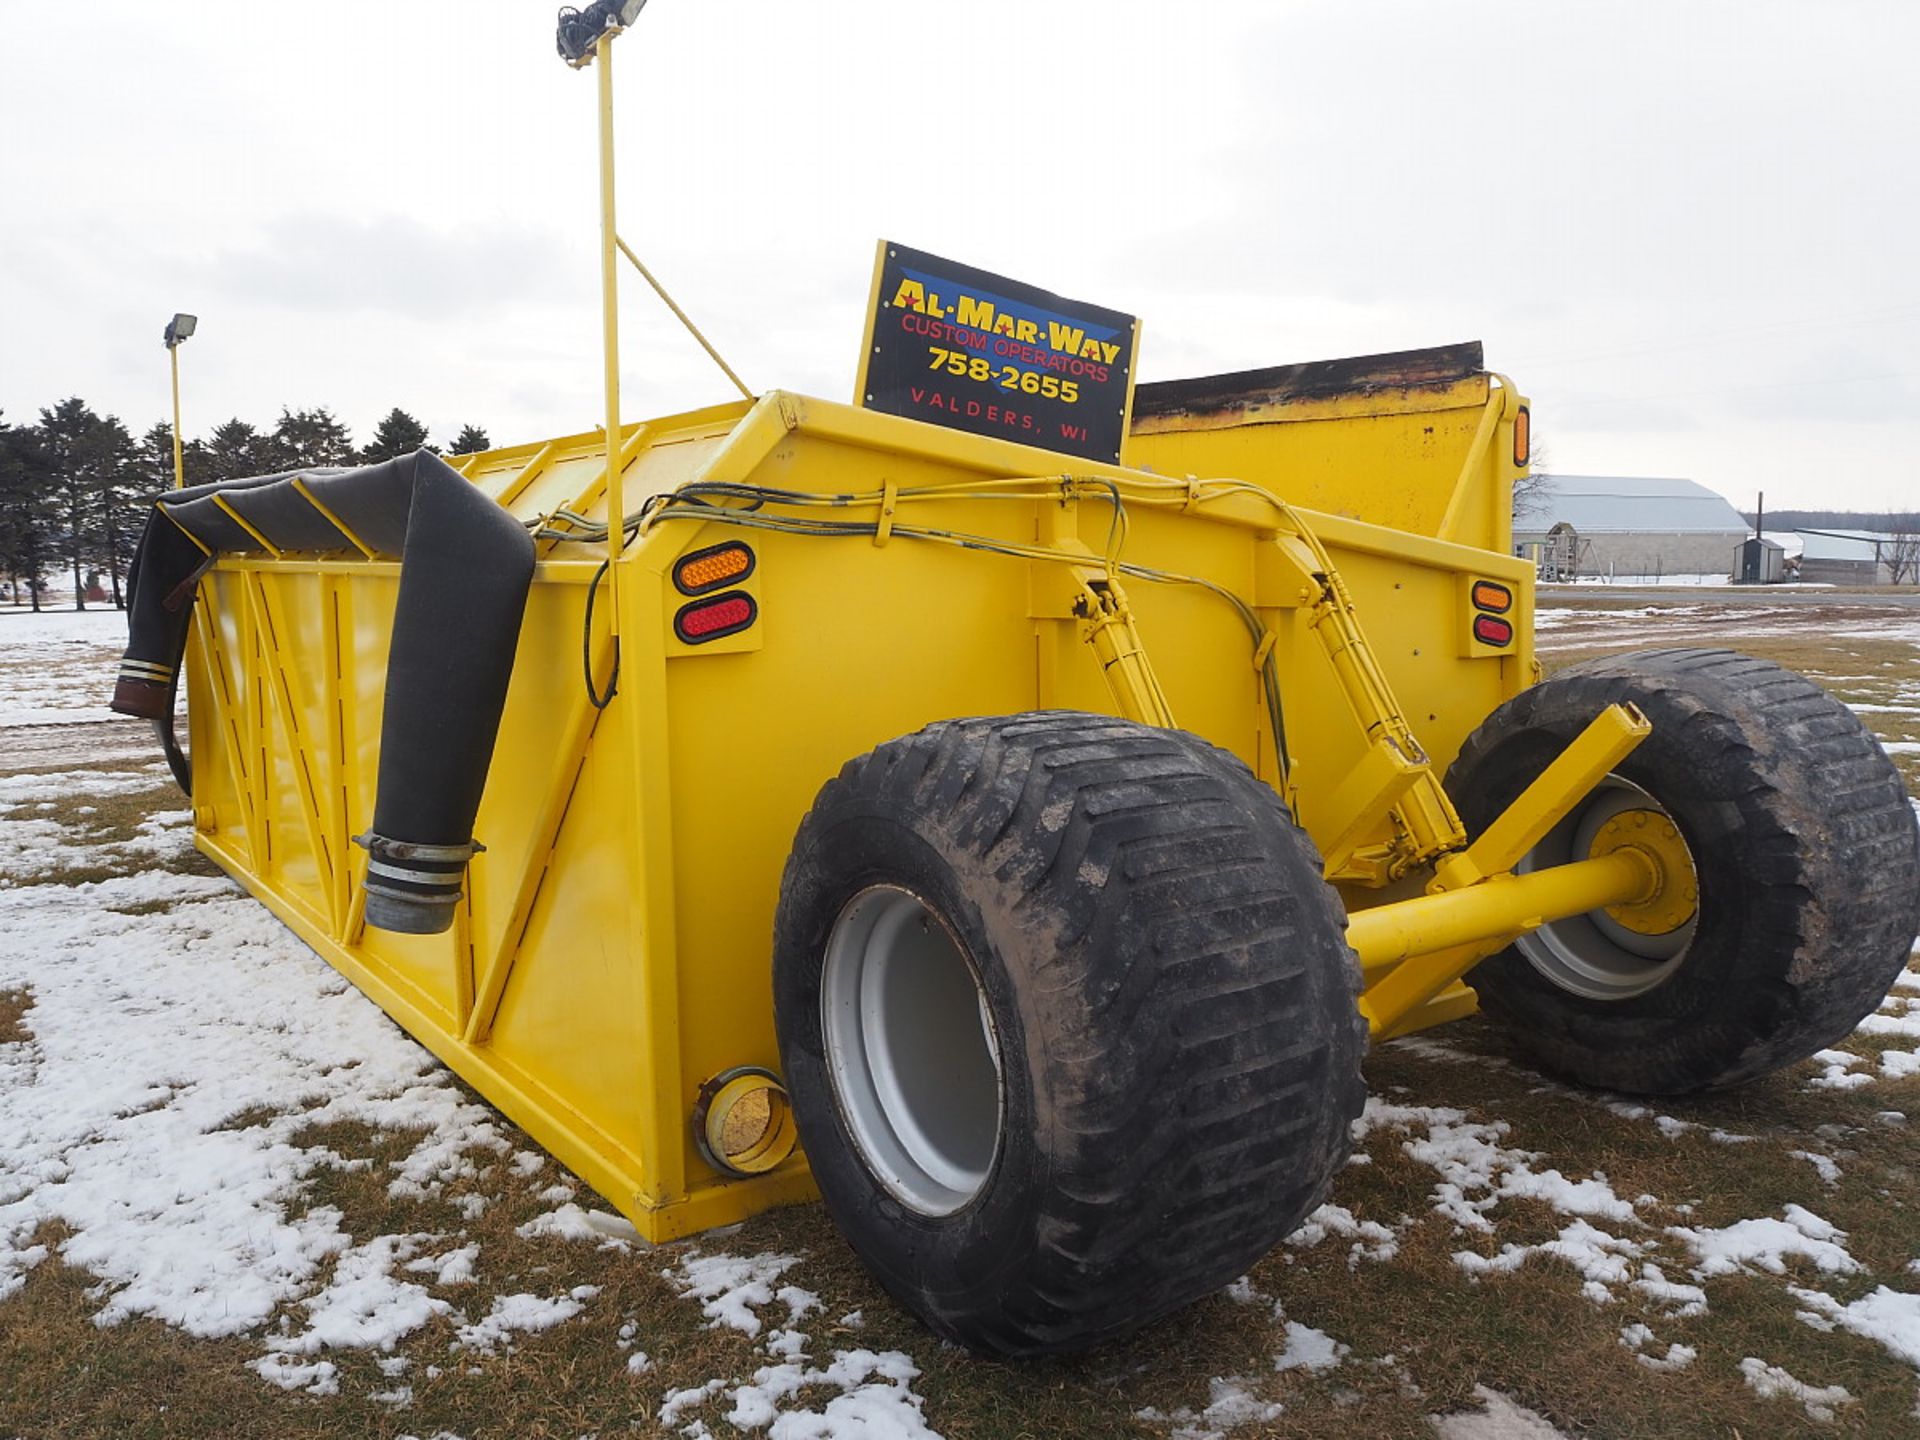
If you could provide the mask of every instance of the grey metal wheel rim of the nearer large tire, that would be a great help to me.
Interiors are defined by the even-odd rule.
[[[860,1160],[902,1204],[950,1215],[1000,1150],[1000,1046],[941,916],[897,885],[841,908],[820,977],[828,1075]]]

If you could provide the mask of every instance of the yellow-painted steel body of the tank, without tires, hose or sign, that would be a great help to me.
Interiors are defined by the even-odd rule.
[[[1484,543],[1511,478],[1503,420],[1475,451],[1500,394],[1248,426],[1258,434],[1229,449],[1258,482],[1064,461],[783,392],[620,426],[616,467],[605,430],[488,451],[467,465],[482,493],[526,522],[578,509],[584,528],[559,526],[536,568],[476,824],[486,851],[455,927],[365,927],[365,860],[348,843],[372,814],[392,557],[228,555],[209,572],[186,676],[198,845],[655,1240],[812,1194],[799,1154],[762,1156],[770,1169],[747,1177],[710,1164],[695,1112],[716,1077],[778,1069],[768,937],[801,816],[849,758],[931,720],[1177,716],[1344,854],[1336,879],[1377,1023],[1465,1014],[1463,954],[1555,906],[1632,902],[1647,870],[1632,852],[1524,879],[1486,870],[1484,851],[1461,851],[1436,780],[1532,678],[1530,570]],[[1402,465],[1382,440],[1411,444],[1428,424],[1421,444],[1448,451],[1430,463]],[[1302,428],[1344,457],[1350,515],[1298,507],[1331,499]],[[618,524],[601,540],[609,515],[695,480],[791,499],[666,503],[624,551]],[[1432,524],[1388,528],[1361,515],[1375,503]],[[793,532],[808,520],[874,540],[885,520],[887,543]],[[689,645],[674,634],[687,597],[672,572],[722,541],[753,549],[737,588],[758,618]],[[591,710],[582,622],[609,549],[616,586],[603,582],[595,609],[622,639],[620,689]],[[1473,578],[1513,591],[1509,651],[1461,655]],[[595,630],[605,678],[599,614]],[[1528,803],[1501,835],[1565,812],[1574,789]],[[1398,899],[1450,856],[1482,872]],[[1423,954],[1438,966],[1415,972]],[[1400,991],[1384,989],[1396,977]]]

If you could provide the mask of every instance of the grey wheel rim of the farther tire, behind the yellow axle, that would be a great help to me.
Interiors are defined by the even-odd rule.
[[[1526,852],[1515,872],[1584,860],[1599,828],[1622,810],[1655,810],[1672,820],[1640,785],[1620,776],[1607,776],[1578,810]],[[1523,935],[1515,941],[1515,948],[1563,991],[1588,1000],[1632,1000],[1672,979],[1686,960],[1697,925],[1699,914],[1667,935],[1642,935],[1605,910],[1588,910]]]

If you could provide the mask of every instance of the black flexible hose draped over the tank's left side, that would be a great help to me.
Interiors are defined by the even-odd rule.
[[[129,572],[129,645],[111,707],[163,726],[163,745],[200,576],[217,555],[265,553],[253,532],[282,551],[348,549],[357,538],[399,555],[374,816],[353,839],[369,854],[367,924],[436,935],[453,924],[478,849],[474,816],[507,705],[534,541],[428,451],[161,495]],[[175,776],[190,783],[182,770],[177,764]]]

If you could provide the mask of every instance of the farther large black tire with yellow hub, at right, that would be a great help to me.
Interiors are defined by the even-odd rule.
[[[1448,791],[1469,833],[1613,701],[1653,733],[1521,870],[1632,843],[1668,883],[1482,960],[1467,975],[1480,1008],[1542,1069],[1640,1094],[1740,1085],[1834,1044],[1920,929],[1920,837],[1885,751],[1768,660],[1617,655],[1523,691],[1467,739]]]

